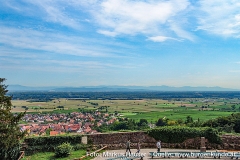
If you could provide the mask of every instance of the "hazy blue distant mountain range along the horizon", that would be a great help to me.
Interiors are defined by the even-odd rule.
[[[86,87],[28,87],[8,85],[9,92],[48,91],[48,92],[134,92],[134,91],[240,91],[222,87],[171,87],[171,86],[86,86]]]

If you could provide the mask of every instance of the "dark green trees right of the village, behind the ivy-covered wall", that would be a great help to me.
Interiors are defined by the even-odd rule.
[[[194,121],[191,116],[187,116],[185,120],[170,120],[168,118],[159,118],[155,123],[156,126],[189,126],[189,127],[212,127],[217,129],[219,132],[235,132],[240,133],[240,113],[233,113],[229,116],[222,116],[216,119],[210,119],[208,121],[200,121],[199,119]],[[119,131],[119,130],[145,130],[148,129],[149,122],[146,119],[140,119],[136,122],[128,118],[119,118],[113,124],[104,124],[94,129],[99,132],[106,131]]]

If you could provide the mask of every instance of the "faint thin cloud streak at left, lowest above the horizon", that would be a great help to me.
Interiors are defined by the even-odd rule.
[[[47,72],[80,72],[80,71],[94,71],[99,70],[112,70],[112,69],[130,69],[136,68],[137,66],[133,64],[113,64],[99,61],[81,61],[81,60],[56,60],[47,59],[43,56],[38,58],[28,58],[28,59],[13,59],[11,57],[1,57],[0,68],[10,69],[10,70],[26,70],[26,71],[47,71]]]

